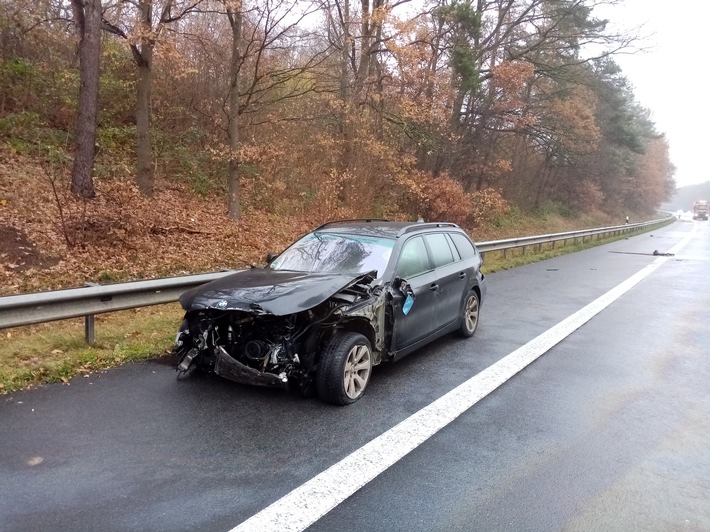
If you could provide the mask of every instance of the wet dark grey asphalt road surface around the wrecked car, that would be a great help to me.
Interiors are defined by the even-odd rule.
[[[710,224],[695,226],[677,256],[311,530],[710,530]],[[692,227],[490,275],[473,339],[377,368],[350,407],[178,382],[158,363],[0,396],[0,530],[230,530]]]

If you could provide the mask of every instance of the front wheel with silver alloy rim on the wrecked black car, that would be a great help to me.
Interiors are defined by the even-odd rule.
[[[365,393],[371,374],[369,340],[356,332],[338,333],[318,362],[318,395],[321,400],[336,405],[354,403]]]

